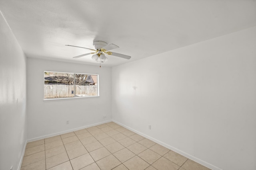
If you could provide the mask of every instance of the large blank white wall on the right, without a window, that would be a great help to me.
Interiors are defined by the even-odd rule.
[[[255,170],[256,27],[113,67],[112,117],[209,168]]]

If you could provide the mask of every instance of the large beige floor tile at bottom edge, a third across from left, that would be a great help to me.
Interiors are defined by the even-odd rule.
[[[74,170],[80,170],[94,162],[89,153],[70,160]]]

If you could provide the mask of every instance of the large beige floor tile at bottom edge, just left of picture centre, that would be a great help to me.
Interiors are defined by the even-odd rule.
[[[101,170],[112,170],[113,168],[121,164],[121,162],[112,154],[105,158],[102,158],[101,160],[98,160],[96,163]]]

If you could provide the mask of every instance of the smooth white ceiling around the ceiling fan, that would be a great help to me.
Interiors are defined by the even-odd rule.
[[[28,57],[97,64],[94,40],[118,45],[116,66],[256,25],[256,0],[0,0]]]

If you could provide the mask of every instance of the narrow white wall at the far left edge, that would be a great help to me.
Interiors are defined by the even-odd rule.
[[[0,12],[0,169],[18,169],[26,144],[26,57]]]

